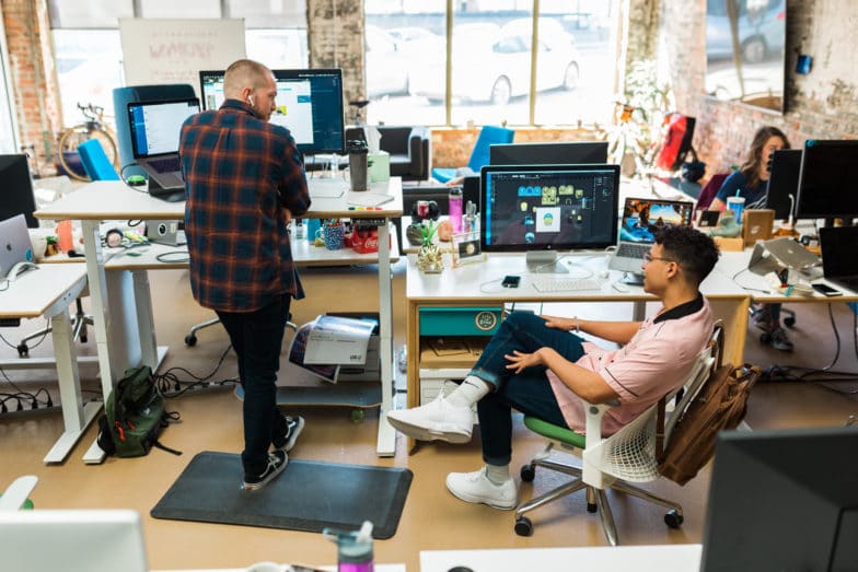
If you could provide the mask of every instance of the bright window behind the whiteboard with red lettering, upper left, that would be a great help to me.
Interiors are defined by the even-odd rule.
[[[248,58],[271,69],[309,61],[304,0],[51,0],[49,10],[66,126],[83,119],[78,103],[113,115],[113,89],[125,85],[120,17],[243,17]]]

